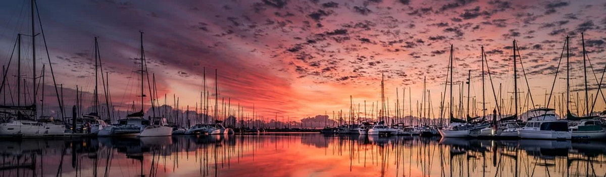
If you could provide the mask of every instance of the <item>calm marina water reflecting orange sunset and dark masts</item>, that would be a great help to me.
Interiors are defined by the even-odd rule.
[[[320,134],[0,140],[0,176],[606,176],[605,142]]]

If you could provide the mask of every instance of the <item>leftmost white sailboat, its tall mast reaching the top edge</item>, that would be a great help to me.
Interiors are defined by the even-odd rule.
[[[33,76],[30,76],[30,78],[32,78],[32,84],[38,84],[38,82],[36,82],[36,72],[38,72],[38,70],[36,70],[36,28],[35,28],[35,17],[36,14],[35,12],[37,11],[36,5],[35,5],[35,0],[32,0],[31,2],[31,13],[32,13],[32,34],[28,35],[30,37],[32,37],[32,64],[33,64],[33,68],[32,68],[32,74]],[[41,33],[42,36],[44,36],[44,32]],[[31,96],[31,98],[33,98],[30,102],[29,105],[27,105],[27,103],[24,102],[24,104],[21,104],[21,101],[25,101],[25,96],[22,95],[22,90],[21,90],[21,79],[22,79],[22,73],[21,73],[21,34],[17,35],[17,43],[16,46],[18,47],[18,73],[17,73],[17,104],[16,105],[0,105],[0,117],[2,118],[2,123],[0,123],[0,136],[61,136],[61,135],[65,135],[65,125],[63,124],[57,124],[55,121],[52,120],[42,120],[42,119],[37,119],[36,120],[36,115],[37,115],[37,105],[36,105],[36,101],[38,100],[38,90],[36,89],[36,87],[31,87],[32,88],[32,92],[31,94],[33,96]],[[9,90],[5,89],[5,82],[7,81],[7,73],[8,70],[6,70],[3,75],[4,78],[2,79],[2,86],[0,87],[0,92],[10,92]],[[54,77],[53,77],[54,79]],[[44,87],[44,85],[42,86]],[[55,85],[56,88],[56,85]],[[42,95],[42,97],[44,97],[44,95]],[[59,103],[61,101],[59,100]],[[60,104],[61,105],[61,104]]]

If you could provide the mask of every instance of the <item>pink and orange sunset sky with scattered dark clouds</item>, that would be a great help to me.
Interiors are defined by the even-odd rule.
[[[31,33],[30,4],[22,0],[2,4],[0,60],[7,65],[17,33]],[[125,110],[132,101],[140,102],[136,97],[140,80],[135,72],[141,57],[139,30],[144,32],[145,56],[149,72],[155,73],[161,103],[164,93],[169,103],[176,94],[184,109],[185,105],[194,107],[200,100],[205,67],[211,93],[217,69],[219,96],[225,101],[231,98],[232,105],[239,103],[247,112],[255,104],[260,115],[273,117],[278,113],[293,119],[347,111],[350,95],[355,104],[363,106],[367,101],[370,110],[371,102],[381,100],[381,73],[385,74],[390,107],[396,88],[399,97],[406,88],[405,112],[409,111],[410,89],[416,112],[426,76],[437,113],[450,44],[456,58],[454,80],[464,82],[471,70],[470,95],[479,99],[478,109],[482,99],[481,45],[494,87],[502,84],[507,106],[513,95],[514,39],[536,105],[545,105],[545,92],[553,84],[565,36],[570,36],[571,90],[583,89],[581,32],[585,32],[585,48],[594,69],[588,69],[590,96],[596,95],[606,65],[604,1],[38,0],[38,8],[55,76],[58,84],[64,84],[65,105],[69,107],[75,104],[71,99],[75,95],[69,90],[75,90],[76,85],[93,92],[94,36],[99,36],[104,70],[110,72],[113,104]],[[36,30],[39,32],[39,27]],[[41,36],[36,39],[41,41]],[[24,37],[23,42],[24,68],[29,75],[30,38]],[[48,64],[43,45],[38,43],[36,48],[37,62]],[[565,63],[560,69],[565,70]],[[519,74],[524,102],[528,86],[521,69]],[[559,73],[556,79],[554,93],[559,96],[565,90],[565,80],[559,79],[563,77],[565,73]],[[51,83],[47,80],[46,84]],[[460,86],[454,87],[453,96],[458,99]],[[488,76],[486,88],[487,107],[492,110],[494,96]],[[54,90],[45,92],[48,102],[56,104]],[[579,98],[574,101],[582,110],[584,92]],[[90,95],[85,99],[85,105],[92,103]],[[604,110],[602,96],[597,102],[595,110]],[[551,103],[553,107],[553,98]],[[508,109],[505,112],[510,113]]]

